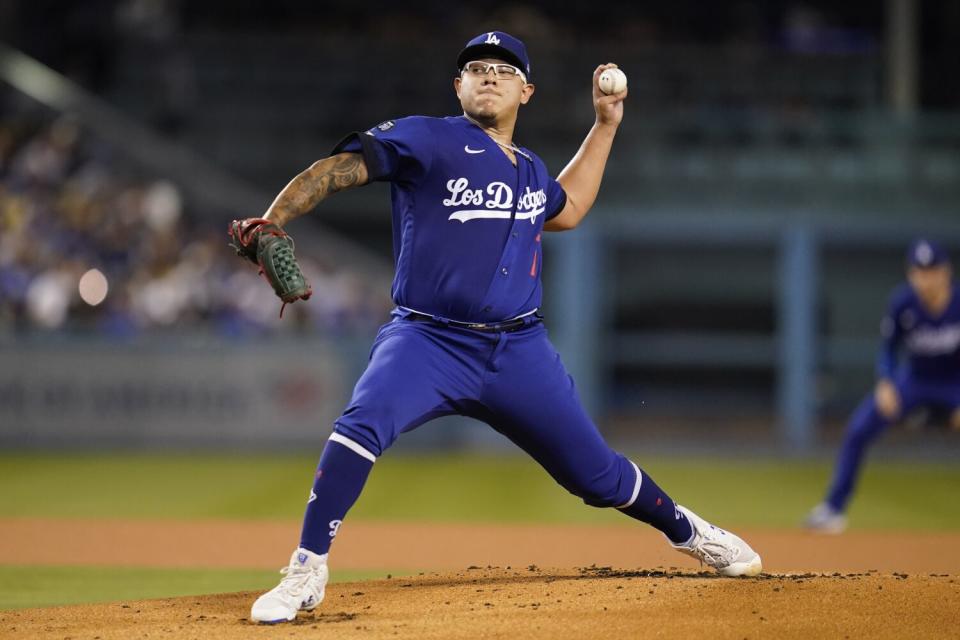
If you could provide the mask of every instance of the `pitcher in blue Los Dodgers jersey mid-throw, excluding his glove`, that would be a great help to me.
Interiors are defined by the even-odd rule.
[[[335,421],[300,546],[280,584],[254,603],[254,620],[292,620],[320,603],[327,551],[377,457],[400,433],[449,414],[487,422],[587,504],[650,523],[721,574],[760,572],[760,557],[740,538],[675,505],[610,449],[537,312],[541,232],[572,229],[587,214],[623,118],[627,92],[603,95],[598,86],[614,66],[594,71],[596,121],[557,180],[513,143],[519,108],[534,94],[526,47],[490,32],[457,59],[462,116],[403,118],[351,134],[271,205],[268,223],[282,226],[332,193],[390,182],[397,308]]]

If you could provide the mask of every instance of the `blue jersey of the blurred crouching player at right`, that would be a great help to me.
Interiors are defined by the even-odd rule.
[[[952,286],[950,303],[938,316],[923,306],[909,285],[897,288],[883,319],[882,333],[877,365],[881,377],[894,376],[902,349],[909,375],[960,381],[960,286]]]

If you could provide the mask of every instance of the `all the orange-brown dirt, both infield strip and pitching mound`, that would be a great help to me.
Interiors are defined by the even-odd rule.
[[[723,579],[639,527],[350,524],[335,546],[334,572],[374,566],[440,572],[332,584],[315,613],[287,625],[251,624],[257,594],[248,592],[0,611],[0,637],[956,637],[958,534],[824,538],[745,531],[770,573]],[[72,541],[70,548],[44,543],[50,534],[43,532],[52,529]],[[276,569],[297,529],[296,523],[5,520],[0,562],[129,564],[131,557],[149,557],[157,566]],[[490,557],[500,558],[498,567],[487,566]],[[532,564],[570,567],[585,565],[584,558],[628,568]],[[456,563],[459,570],[444,570]]]

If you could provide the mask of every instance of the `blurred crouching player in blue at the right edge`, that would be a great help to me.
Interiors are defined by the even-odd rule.
[[[867,447],[891,423],[918,407],[947,409],[960,429],[960,290],[943,247],[917,240],[907,253],[907,281],[898,287],[881,325],[877,385],[847,425],[827,497],[805,525],[841,533]],[[907,358],[898,364],[900,351]]]

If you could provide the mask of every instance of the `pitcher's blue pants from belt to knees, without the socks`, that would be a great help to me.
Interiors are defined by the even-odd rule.
[[[633,497],[632,463],[584,412],[542,323],[511,333],[385,325],[334,432],[379,456],[401,433],[451,414],[486,422],[588,504]]]

